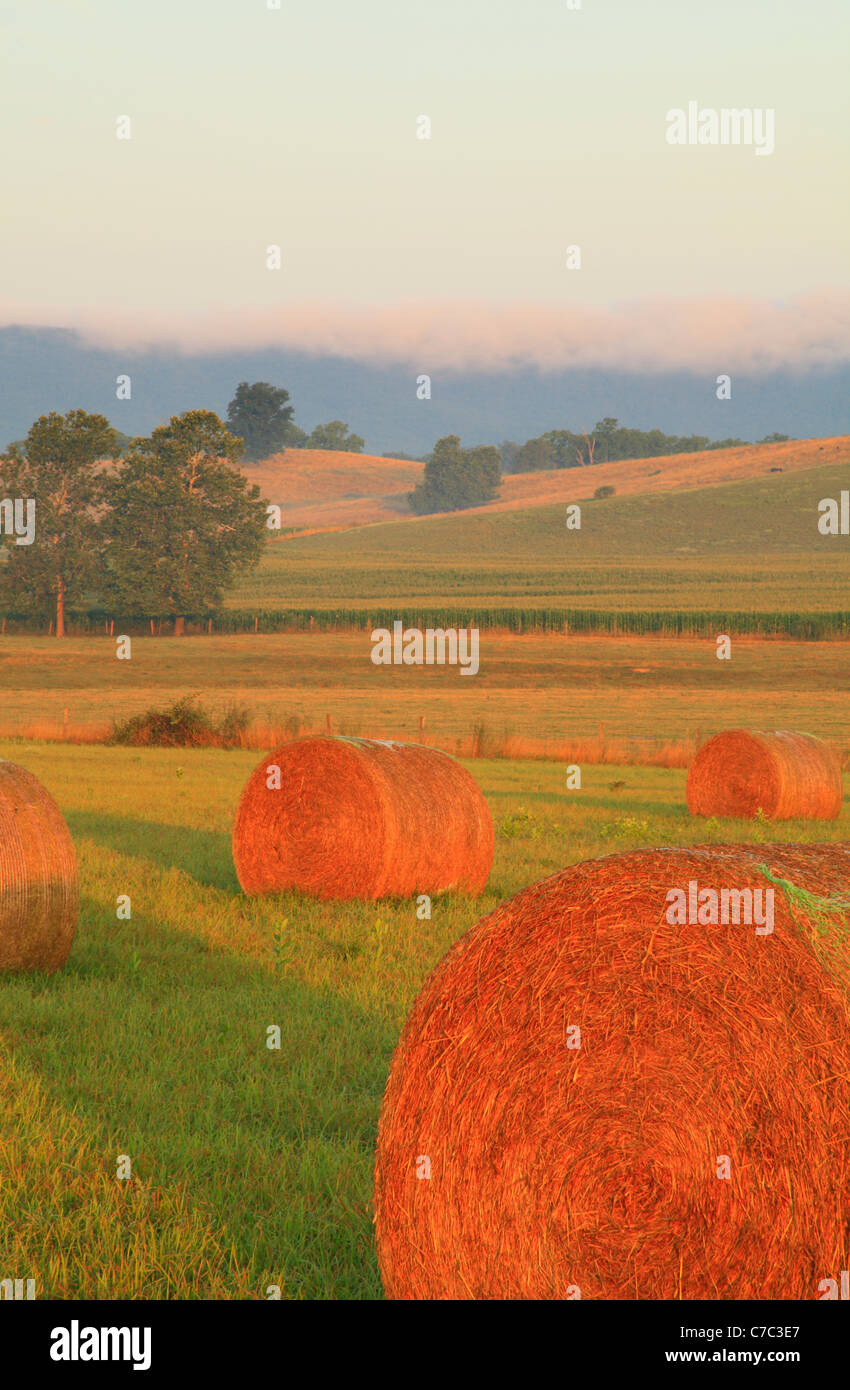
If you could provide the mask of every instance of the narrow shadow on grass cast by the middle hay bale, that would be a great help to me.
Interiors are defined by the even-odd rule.
[[[106,849],[147,859],[161,869],[181,869],[207,888],[242,892],[231,837],[222,831],[162,826],[154,820],[129,820],[89,810],[68,810],[65,820],[72,835],[85,835]]]

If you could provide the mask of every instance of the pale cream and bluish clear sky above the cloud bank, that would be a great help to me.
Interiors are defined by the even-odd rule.
[[[474,357],[478,304],[767,335],[849,285],[846,0],[0,0],[0,322],[297,346],[321,304],[332,350],[336,307],[465,302]],[[689,100],[774,108],[775,153],[669,146]]]

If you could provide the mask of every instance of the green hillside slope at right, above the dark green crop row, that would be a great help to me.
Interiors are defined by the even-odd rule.
[[[579,491],[581,531],[549,503],[278,538],[229,605],[842,610],[850,538],[822,537],[817,523],[821,498],[847,485],[850,452],[712,486],[601,500]]]

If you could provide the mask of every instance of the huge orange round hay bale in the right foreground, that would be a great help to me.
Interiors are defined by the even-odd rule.
[[[833,973],[761,863],[843,898]],[[772,933],[668,924],[690,881],[772,888]],[[850,1254],[849,883],[849,845],[611,855],[467,933],[383,1098],[388,1295],[817,1298]]]

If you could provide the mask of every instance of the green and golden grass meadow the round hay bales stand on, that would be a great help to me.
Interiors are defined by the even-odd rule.
[[[379,1297],[381,1095],[410,1005],[462,931],[600,853],[850,838],[847,806],[831,823],[690,820],[678,770],[588,767],[567,792],[562,766],[479,760],[490,884],[418,920],[412,901],[240,895],[229,831],[256,753],[0,756],[56,796],[81,867],[67,967],[0,980],[0,1272],[35,1279],[39,1298]]]

